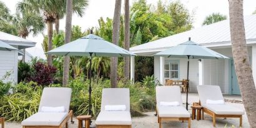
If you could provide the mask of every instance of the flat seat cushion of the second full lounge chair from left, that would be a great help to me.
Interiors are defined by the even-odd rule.
[[[96,119],[96,125],[131,125],[129,111],[101,111]]]

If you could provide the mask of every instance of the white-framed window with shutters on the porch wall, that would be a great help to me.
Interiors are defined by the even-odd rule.
[[[179,62],[166,62],[164,64],[165,79],[179,79]]]

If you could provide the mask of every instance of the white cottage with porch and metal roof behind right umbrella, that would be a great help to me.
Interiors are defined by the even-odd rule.
[[[244,21],[247,47],[254,82],[256,83],[256,15],[245,16]],[[190,91],[197,92],[196,86],[205,84],[220,86],[224,94],[240,94],[234,70],[229,20],[131,47],[130,51],[138,56],[153,56],[157,52],[187,41],[189,37],[201,46],[230,57],[230,59],[225,60],[190,59]],[[134,57],[131,57],[130,62],[130,77],[134,79]],[[186,79],[187,59],[154,57],[154,76],[163,85],[165,84],[165,79]]]

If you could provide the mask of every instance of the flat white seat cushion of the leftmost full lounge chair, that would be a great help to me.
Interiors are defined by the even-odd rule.
[[[67,112],[37,112],[21,122],[22,126],[59,126]]]

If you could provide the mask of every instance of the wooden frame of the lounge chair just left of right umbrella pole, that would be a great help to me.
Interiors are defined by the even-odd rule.
[[[157,110],[156,110],[156,114],[157,114]],[[188,127],[190,128],[190,117],[159,117],[159,114],[157,114],[157,122],[159,123],[159,128],[162,128],[162,121],[188,121]]]

